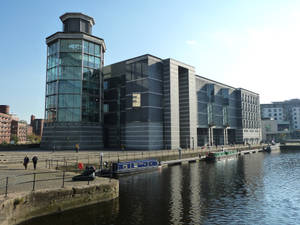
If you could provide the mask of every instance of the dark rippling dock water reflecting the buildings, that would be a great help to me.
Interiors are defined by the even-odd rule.
[[[300,151],[120,178],[116,200],[22,225],[299,224]]]

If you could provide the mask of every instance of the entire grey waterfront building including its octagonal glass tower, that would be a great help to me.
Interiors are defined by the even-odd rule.
[[[143,55],[103,68],[93,18],[60,17],[48,38],[46,149],[197,148],[259,143],[259,95],[195,74],[174,59]],[[103,107],[102,107],[103,106]]]

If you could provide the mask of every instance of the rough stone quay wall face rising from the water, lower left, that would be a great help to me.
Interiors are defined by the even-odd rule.
[[[119,181],[106,180],[104,183],[12,193],[0,197],[0,225],[18,224],[34,217],[117,198]]]

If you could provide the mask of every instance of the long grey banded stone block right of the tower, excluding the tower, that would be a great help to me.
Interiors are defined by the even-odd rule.
[[[259,143],[259,95],[143,55],[104,67],[104,146],[196,148]]]

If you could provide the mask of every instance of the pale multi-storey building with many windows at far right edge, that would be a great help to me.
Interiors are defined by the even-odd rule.
[[[278,132],[286,137],[300,137],[300,99],[261,104],[262,119],[274,119],[278,124]]]

